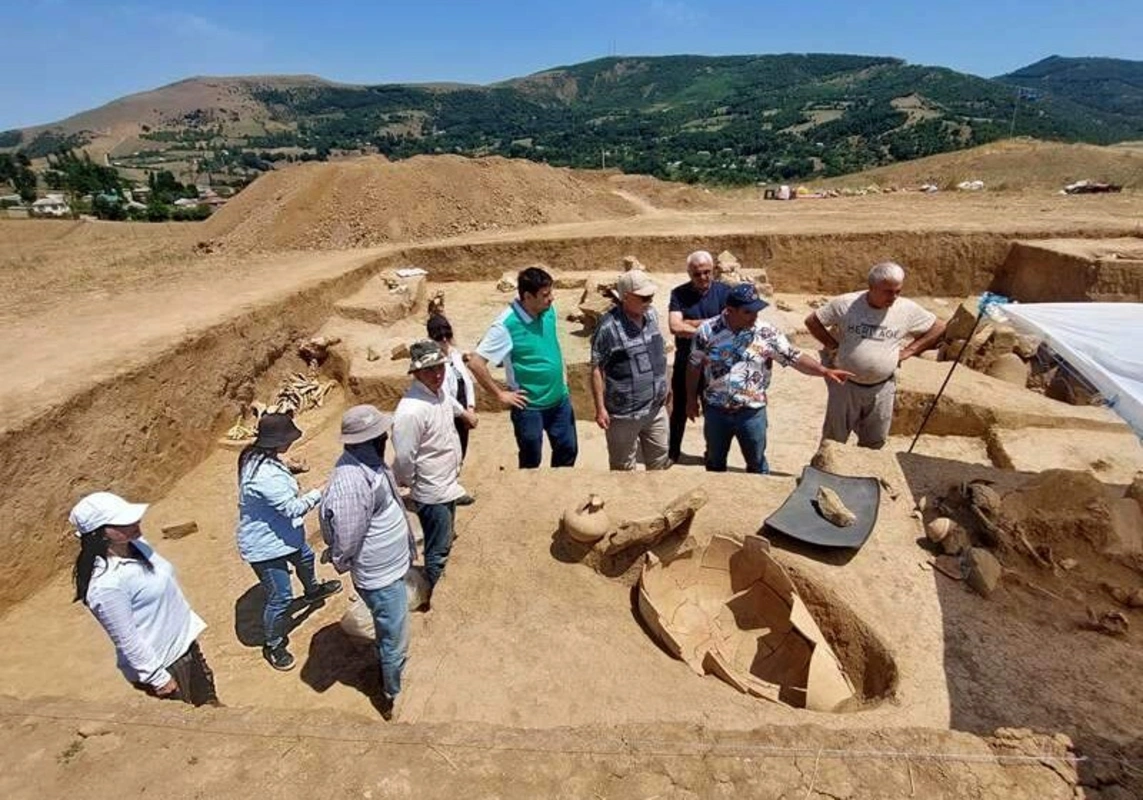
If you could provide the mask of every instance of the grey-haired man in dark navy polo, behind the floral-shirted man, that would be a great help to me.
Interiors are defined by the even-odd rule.
[[[671,438],[668,457],[679,461],[682,451],[682,434],[687,430],[687,359],[690,358],[690,339],[703,320],[718,317],[726,307],[730,287],[714,280],[714,258],[706,250],[695,250],[687,256],[687,274],[690,280],[671,289],[668,306],[668,326],[674,334],[674,366],[671,368]],[[703,386],[698,394],[702,397]]]

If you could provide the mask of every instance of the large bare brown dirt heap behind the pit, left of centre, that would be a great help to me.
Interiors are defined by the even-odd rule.
[[[590,173],[498,157],[368,157],[270,173],[211,217],[202,234],[234,250],[347,248],[636,210]]]

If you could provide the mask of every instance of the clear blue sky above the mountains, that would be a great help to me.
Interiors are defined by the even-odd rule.
[[[0,130],[191,75],[487,83],[606,55],[1143,58],[1143,0],[8,0]]]

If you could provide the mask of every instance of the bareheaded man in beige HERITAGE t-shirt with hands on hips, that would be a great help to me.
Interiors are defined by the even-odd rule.
[[[944,322],[935,314],[900,296],[904,280],[900,264],[878,264],[869,272],[868,290],[834,297],[806,318],[809,333],[825,347],[822,361],[832,359],[832,366],[854,374],[846,383],[826,383],[823,439],[845,442],[856,432],[860,447],[884,447],[897,365],[944,335]]]

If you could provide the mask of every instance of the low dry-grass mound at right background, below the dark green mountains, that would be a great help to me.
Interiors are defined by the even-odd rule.
[[[953,153],[878,167],[828,181],[833,186],[919,186],[952,189],[961,181],[983,181],[985,189],[1060,190],[1074,181],[1101,181],[1143,187],[1143,151],[1061,144],[1029,138],[1005,139]]]

